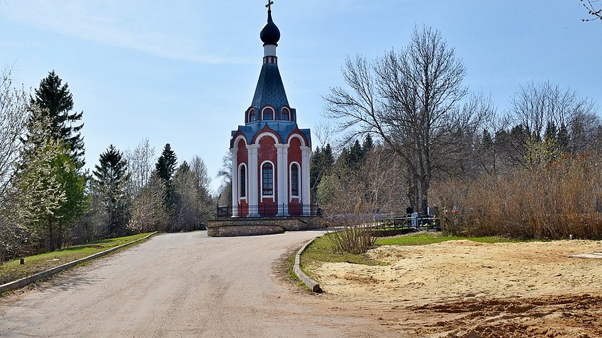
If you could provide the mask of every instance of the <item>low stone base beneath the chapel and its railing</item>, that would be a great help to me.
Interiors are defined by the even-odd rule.
[[[280,234],[285,231],[318,229],[316,217],[253,217],[213,219],[207,222],[209,237],[254,236]]]

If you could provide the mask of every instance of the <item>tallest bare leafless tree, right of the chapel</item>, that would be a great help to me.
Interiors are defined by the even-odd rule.
[[[408,200],[426,212],[433,171],[450,162],[450,142],[474,133],[491,106],[467,101],[465,68],[441,33],[415,28],[408,46],[373,62],[348,58],[342,70],[349,89],[335,87],[325,99],[325,117],[336,119],[348,138],[376,134],[404,161]]]

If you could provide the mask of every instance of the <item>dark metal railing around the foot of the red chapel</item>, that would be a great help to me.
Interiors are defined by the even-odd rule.
[[[218,206],[218,218],[306,217],[321,216],[322,210],[312,204],[259,204],[253,206]]]

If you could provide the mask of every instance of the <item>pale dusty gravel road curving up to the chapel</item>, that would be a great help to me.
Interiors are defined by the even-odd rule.
[[[0,298],[0,337],[382,336],[286,280],[284,255],[319,234],[161,234]]]

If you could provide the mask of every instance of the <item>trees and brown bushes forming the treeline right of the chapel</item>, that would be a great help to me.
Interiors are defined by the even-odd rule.
[[[454,233],[601,238],[602,123],[594,100],[529,82],[498,112],[468,90],[464,75],[454,49],[430,27],[374,60],[348,58],[346,86],[324,98],[324,115],[345,140],[358,141],[316,149],[317,202],[332,215],[438,210]],[[376,140],[369,151],[359,147],[367,136]],[[351,153],[362,156],[343,165]]]

